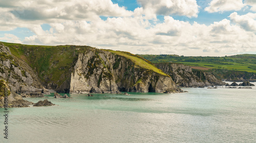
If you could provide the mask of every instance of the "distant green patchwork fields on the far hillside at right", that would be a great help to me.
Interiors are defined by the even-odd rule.
[[[227,69],[256,73],[256,54],[241,54],[225,57],[178,56],[178,55],[140,55],[153,63],[173,62],[189,66],[212,69]]]

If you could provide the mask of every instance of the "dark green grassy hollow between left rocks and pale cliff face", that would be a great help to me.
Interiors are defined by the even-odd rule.
[[[75,60],[75,46],[38,46],[2,42],[14,56],[28,63],[39,78],[61,84]],[[47,77],[47,78],[46,78]]]

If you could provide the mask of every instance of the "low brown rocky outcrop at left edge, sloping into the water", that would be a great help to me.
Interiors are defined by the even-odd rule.
[[[1,89],[0,89],[0,107],[4,107],[4,103],[5,103],[5,98],[4,98],[4,88],[6,88],[6,91],[8,93],[8,107],[28,107],[31,104],[34,104],[33,102],[29,102],[27,100],[24,100],[22,98],[22,96],[16,94],[15,92],[10,90],[9,85],[6,83],[6,81],[4,80],[0,80],[0,85],[1,85]]]

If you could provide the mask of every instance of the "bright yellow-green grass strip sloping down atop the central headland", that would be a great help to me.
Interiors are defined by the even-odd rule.
[[[135,66],[154,71],[154,72],[156,72],[160,75],[168,76],[167,74],[162,72],[160,69],[155,67],[150,61],[147,61],[147,60],[141,58],[140,56],[137,56],[137,55],[132,54],[130,52],[124,52],[124,51],[114,51],[114,50],[107,50],[107,51],[118,54],[120,56],[124,56],[127,59],[130,59],[133,63],[135,63]]]

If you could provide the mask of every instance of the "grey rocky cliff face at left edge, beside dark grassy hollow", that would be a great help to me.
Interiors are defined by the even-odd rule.
[[[34,77],[34,78],[33,78]],[[8,81],[13,92],[41,92],[42,85],[31,67],[11,55],[9,47],[0,43],[0,79]]]

